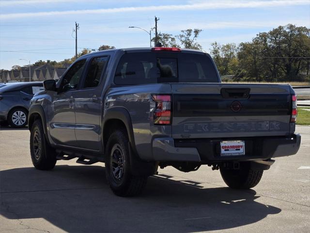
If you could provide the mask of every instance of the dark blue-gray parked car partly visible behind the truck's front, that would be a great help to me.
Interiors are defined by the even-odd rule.
[[[30,100],[42,90],[42,82],[1,84],[0,121],[7,121],[14,128],[26,126]]]

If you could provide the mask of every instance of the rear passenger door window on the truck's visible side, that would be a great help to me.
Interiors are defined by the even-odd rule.
[[[83,88],[91,88],[99,85],[103,78],[103,72],[107,66],[108,57],[95,57],[91,61]]]

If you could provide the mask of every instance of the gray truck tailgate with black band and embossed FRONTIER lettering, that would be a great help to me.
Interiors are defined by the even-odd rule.
[[[172,83],[173,138],[290,134],[288,84]]]

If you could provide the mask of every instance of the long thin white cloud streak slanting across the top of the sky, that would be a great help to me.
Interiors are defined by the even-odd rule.
[[[33,0],[32,0],[33,1]],[[55,1],[55,0],[54,0]],[[47,1],[48,2],[48,1]],[[3,5],[3,2],[1,1]],[[120,7],[108,9],[92,9],[92,10],[70,10],[70,11],[48,11],[48,12],[27,12],[1,14],[0,18],[12,19],[23,17],[48,17],[61,15],[81,15],[81,14],[112,14],[126,12],[147,12],[147,11],[182,11],[182,10],[208,10],[208,9],[228,9],[228,8],[261,8],[261,7],[280,7],[291,5],[309,5],[309,0],[217,0],[217,1],[194,1],[189,4],[180,5],[158,5],[158,6],[138,6],[138,7]]]

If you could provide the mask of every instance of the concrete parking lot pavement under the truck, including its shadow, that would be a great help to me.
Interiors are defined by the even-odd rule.
[[[262,181],[231,190],[219,171],[174,168],[150,177],[140,197],[112,194],[101,164],[59,161],[33,168],[27,129],[0,130],[0,231],[3,232],[309,232],[310,126],[298,154],[277,158]]]

